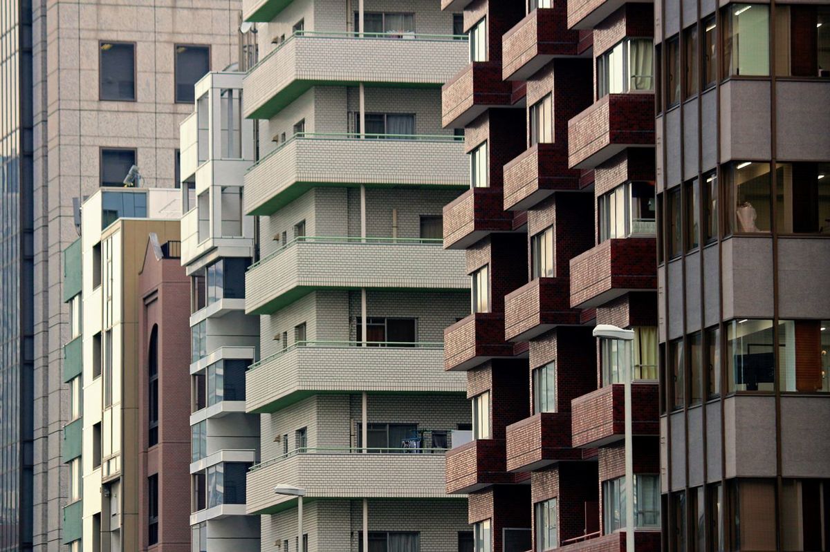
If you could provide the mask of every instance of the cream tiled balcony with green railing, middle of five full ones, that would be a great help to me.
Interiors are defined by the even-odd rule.
[[[267,314],[315,289],[466,290],[464,254],[441,240],[304,236],[245,274],[247,314]]]

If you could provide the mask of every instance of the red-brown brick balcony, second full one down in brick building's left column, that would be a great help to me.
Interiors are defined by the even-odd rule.
[[[500,188],[471,188],[444,206],[444,247],[466,249],[492,232],[513,230]]]

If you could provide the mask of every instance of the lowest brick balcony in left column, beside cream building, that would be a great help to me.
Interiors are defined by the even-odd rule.
[[[477,439],[447,452],[447,494],[467,494],[495,483],[512,483],[505,471],[504,439]]]

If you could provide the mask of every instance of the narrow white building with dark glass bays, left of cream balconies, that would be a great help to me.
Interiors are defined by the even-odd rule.
[[[260,443],[259,415],[245,410],[259,319],[245,313],[245,271],[256,251],[242,192],[256,144],[254,123],[242,118],[243,75],[205,75],[181,126],[181,264],[190,282],[191,335],[191,484],[184,490],[191,550],[210,552],[260,550],[259,516],[246,516],[245,508],[246,472],[259,461]]]

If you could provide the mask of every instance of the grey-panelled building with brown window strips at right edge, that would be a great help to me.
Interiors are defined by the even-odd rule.
[[[828,550],[830,7],[655,11],[664,550]]]

